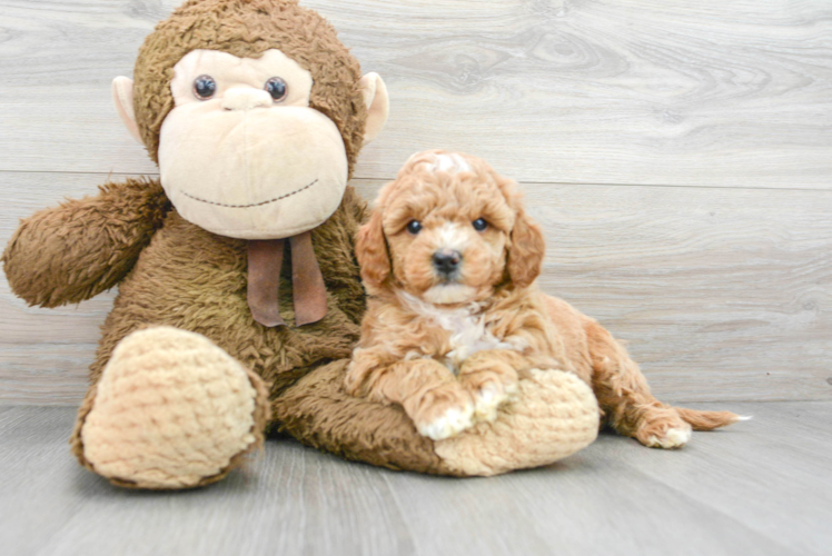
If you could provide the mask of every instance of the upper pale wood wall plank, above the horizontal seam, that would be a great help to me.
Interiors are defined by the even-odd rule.
[[[0,170],[148,172],[110,81],[179,0],[0,0]],[[414,151],[523,181],[830,188],[826,0],[305,0],[392,96],[356,176]]]

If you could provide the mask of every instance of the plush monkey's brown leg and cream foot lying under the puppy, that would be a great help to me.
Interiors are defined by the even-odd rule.
[[[344,387],[348,363],[315,369],[275,400],[284,431],[350,459],[454,476],[548,465],[598,434],[598,405],[586,384],[562,370],[532,370],[493,423],[433,441],[419,435],[399,406],[349,396]]]

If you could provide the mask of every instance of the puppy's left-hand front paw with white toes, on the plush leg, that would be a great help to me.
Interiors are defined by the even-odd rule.
[[[447,383],[428,391],[416,407],[405,404],[422,436],[444,440],[474,426],[474,401],[456,383]]]

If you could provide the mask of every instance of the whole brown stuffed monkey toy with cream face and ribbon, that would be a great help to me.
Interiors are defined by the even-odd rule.
[[[113,99],[159,178],[37,212],[2,257],[31,305],[118,286],[71,437],[81,465],[125,487],[196,487],[281,431],[389,468],[492,475],[595,439],[596,399],[566,371],[523,380],[496,421],[440,441],[345,393],[366,217],[347,182],[388,101],[316,12],[189,0]]]

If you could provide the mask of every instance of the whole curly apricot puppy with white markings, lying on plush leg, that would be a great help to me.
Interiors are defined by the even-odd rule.
[[[656,400],[610,332],[537,289],[544,249],[514,181],[475,157],[414,155],[357,236],[372,297],[348,391],[402,405],[434,439],[493,420],[533,368],[575,373],[606,421],[646,446],[737,420]]]

